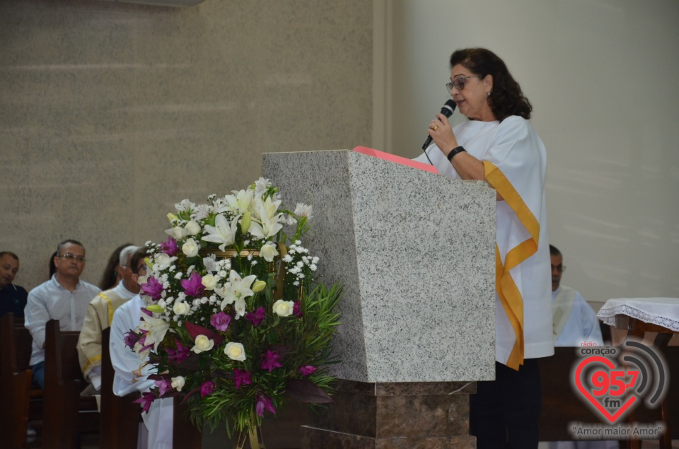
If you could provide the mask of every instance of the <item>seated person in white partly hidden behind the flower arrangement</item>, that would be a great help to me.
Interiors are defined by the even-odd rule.
[[[143,258],[142,258],[143,259]],[[132,264],[132,278],[139,282],[141,276],[146,276],[146,265],[139,267]],[[137,272],[134,272],[134,270]],[[111,363],[115,370],[113,378],[113,393],[124,396],[131,392],[147,392],[151,390],[154,381],[148,379],[152,367],[147,365],[148,356],[139,358],[125,344],[125,334],[136,330],[141,320],[141,308],[146,307],[139,294],[121,305],[113,314],[110,334]],[[141,405],[139,406],[141,413]],[[173,431],[173,398],[155,400],[148,413],[141,414],[144,426],[140,426],[138,449],[172,449]]]

